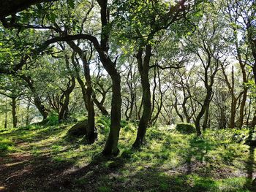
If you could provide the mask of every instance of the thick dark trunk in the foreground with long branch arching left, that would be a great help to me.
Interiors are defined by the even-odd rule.
[[[121,123],[121,76],[118,73],[116,67],[116,61],[112,61],[110,55],[108,55],[109,50],[109,18],[110,12],[108,9],[108,0],[97,0],[100,7],[101,15],[101,38],[100,43],[97,37],[92,36],[91,34],[76,34],[76,35],[67,35],[61,37],[53,37],[45,41],[37,51],[44,50],[48,45],[65,41],[69,42],[77,39],[86,39],[93,43],[97,53],[99,54],[99,59],[102,62],[105,70],[111,77],[113,86],[112,86],[112,101],[111,101],[111,124],[110,124],[110,134],[106,142],[105,148],[102,151],[103,155],[117,155],[118,154],[118,138],[120,131]]]

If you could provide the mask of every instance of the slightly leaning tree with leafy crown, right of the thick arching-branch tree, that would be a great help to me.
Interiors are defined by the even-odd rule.
[[[144,1],[121,1],[118,7],[118,20],[121,20],[119,27],[127,28],[121,33],[121,37],[124,37],[124,41],[130,39],[130,43],[135,43],[135,58],[143,91],[143,112],[133,144],[133,147],[138,148],[144,142],[146,128],[151,120],[152,104],[148,73],[153,55],[152,45],[158,41],[158,34],[184,18],[189,6],[187,1],[178,1],[175,5],[162,1],[151,1],[149,4]],[[146,15],[145,12],[149,14]]]

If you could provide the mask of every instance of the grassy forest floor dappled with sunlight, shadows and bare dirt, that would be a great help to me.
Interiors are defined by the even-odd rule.
[[[99,153],[108,123],[97,119],[93,145],[67,137],[72,125],[0,129],[0,191],[256,191],[246,130],[197,138],[169,126],[149,128],[146,145],[130,150],[136,128],[123,122],[121,153],[107,159]]]

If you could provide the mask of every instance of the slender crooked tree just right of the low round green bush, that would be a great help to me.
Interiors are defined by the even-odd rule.
[[[200,120],[205,115],[203,123],[204,129],[208,122],[208,110],[210,102],[213,96],[213,85],[217,72],[220,69],[220,63],[225,62],[225,41],[222,38],[222,23],[221,20],[214,20],[214,14],[218,14],[218,7],[205,7],[204,18],[199,23],[199,28],[192,35],[188,42],[188,46],[192,48],[192,53],[196,55],[198,61],[202,65],[203,69],[199,69],[200,79],[203,81],[206,94],[203,99],[203,104],[200,104],[200,111],[197,113],[195,118],[195,126],[197,135],[201,134],[200,131]],[[217,8],[217,9],[216,9]],[[211,11],[210,11],[211,10]],[[195,38],[196,37],[196,38]],[[195,39],[194,39],[195,38]]]

